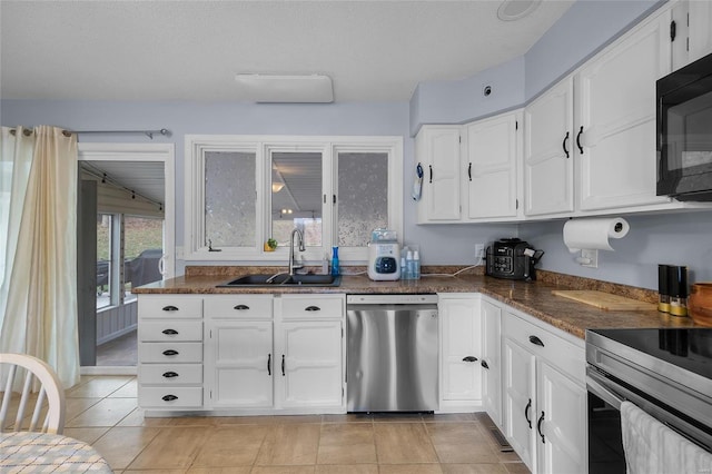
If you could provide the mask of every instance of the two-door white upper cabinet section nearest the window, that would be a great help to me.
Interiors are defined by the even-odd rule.
[[[464,126],[426,125],[415,140],[423,167],[418,224],[516,220],[522,111]]]

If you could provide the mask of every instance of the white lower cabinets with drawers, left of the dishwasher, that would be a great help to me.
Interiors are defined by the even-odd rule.
[[[345,413],[344,295],[140,295],[147,412]]]

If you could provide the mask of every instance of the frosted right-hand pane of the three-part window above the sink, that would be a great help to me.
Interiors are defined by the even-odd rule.
[[[363,247],[388,226],[388,154],[338,154],[338,245]]]

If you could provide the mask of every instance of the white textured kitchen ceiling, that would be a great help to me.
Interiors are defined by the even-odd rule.
[[[524,55],[573,1],[2,0],[0,95],[230,101],[237,73],[324,73],[336,101],[405,101]]]

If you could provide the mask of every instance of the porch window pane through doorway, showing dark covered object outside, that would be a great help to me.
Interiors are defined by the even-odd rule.
[[[123,246],[123,288],[128,300],[136,298],[132,287],[162,279],[158,266],[164,256],[164,220],[126,216]]]

